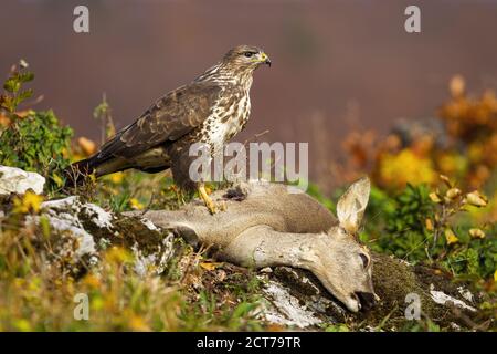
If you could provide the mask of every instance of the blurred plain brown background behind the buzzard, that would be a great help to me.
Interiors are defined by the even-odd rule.
[[[89,8],[87,34],[73,31],[77,4]],[[421,7],[420,34],[404,31],[409,4]],[[2,0],[0,29],[0,71],[25,59],[44,95],[36,108],[94,139],[104,92],[123,127],[229,48],[262,46],[274,64],[256,72],[236,139],[269,129],[262,139],[309,142],[311,176],[351,128],[385,133],[399,117],[433,116],[456,73],[469,91],[497,87],[490,0]]]

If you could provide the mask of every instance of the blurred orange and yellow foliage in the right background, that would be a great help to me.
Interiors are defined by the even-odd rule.
[[[438,110],[445,132],[425,126],[436,121],[409,121],[382,139],[371,131],[350,133],[342,144],[348,160],[335,166],[343,181],[369,173],[377,186],[394,190],[406,183],[432,184],[444,174],[482,187],[497,167],[497,98],[493,91],[468,96],[461,75],[448,88],[451,98]]]

